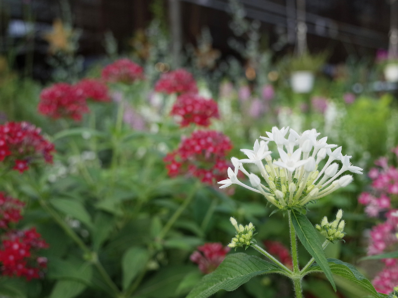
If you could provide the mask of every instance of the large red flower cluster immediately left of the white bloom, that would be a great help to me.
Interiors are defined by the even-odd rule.
[[[168,174],[198,177],[212,184],[225,178],[230,162],[225,159],[232,149],[227,136],[217,131],[195,131],[182,140],[178,149],[164,158]]]

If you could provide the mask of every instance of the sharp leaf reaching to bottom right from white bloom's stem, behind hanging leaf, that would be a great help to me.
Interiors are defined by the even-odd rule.
[[[353,265],[343,262],[338,259],[327,259],[332,273],[339,275],[347,280],[354,282],[374,297],[380,297],[371,282],[362,275]],[[318,264],[313,264],[309,267],[310,271],[322,271]]]

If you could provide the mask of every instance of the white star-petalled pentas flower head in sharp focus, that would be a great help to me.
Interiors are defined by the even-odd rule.
[[[220,188],[237,184],[263,194],[279,209],[300,209],[351,183],[347,172],[362,174],[360,167],[351,164],[351,156],[343,156],[341,147],[327,144],[327,137],[317,140],[320,133],[315,129],[298,134],[289,127],[274,127],[266,135],[255,141],[253,150],[241,149],[247,158],[232,157],[234,170],[228,169],[229,178],[218,182]],[[276,144],[276,151],[269,150],[270,142]],[[259,173],[246,170],[247,164]],[[239,171],[248,177],[250,186],[239,180]]]

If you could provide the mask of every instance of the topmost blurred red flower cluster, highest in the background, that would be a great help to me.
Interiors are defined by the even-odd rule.
[[[101,73],[102,78],[107,82],[132,83],[144,78],[144,69],[131,60],[119,59],[106,66]]]

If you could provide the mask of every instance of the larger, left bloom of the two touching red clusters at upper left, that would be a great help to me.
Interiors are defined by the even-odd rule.
[[[82,115],[89,112],[89,107],[76,86],[56,83],[41,91],[38,111],[54,119],[65,117],[80,121]]]

